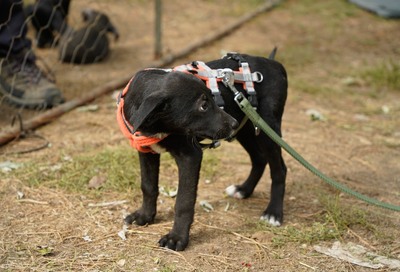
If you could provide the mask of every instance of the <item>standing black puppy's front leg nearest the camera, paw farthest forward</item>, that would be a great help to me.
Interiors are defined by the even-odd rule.
[[[183,151],[183,152],[182,152]],[[186,146],[185,150],[172,153],[179,169],[178,195],[175,204],[175,219],[172,230],[163,236],[159,244],[172,250],[181,251],[189,243],[190,226],[193,223],[197,185],[202,160],[201,149]]]

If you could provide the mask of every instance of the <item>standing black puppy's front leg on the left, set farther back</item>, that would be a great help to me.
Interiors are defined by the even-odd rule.
[[[142,207],[125,218],[125,222],[143,226],[153,223],[157,213],[160,154],[139,153],[141,170]]]

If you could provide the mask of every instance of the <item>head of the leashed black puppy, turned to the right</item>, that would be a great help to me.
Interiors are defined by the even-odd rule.
[[[193,75],[142,71],[130,88],[125,113],[133,127],[144,134],[224,139],[238,127],[238,122],[215,104],[211,91]]]

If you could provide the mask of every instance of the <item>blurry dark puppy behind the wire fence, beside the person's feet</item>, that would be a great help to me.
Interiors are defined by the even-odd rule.
[[[82,11],[86,25],[76,31],[69,29],[60,41],[60,60],[67,63],[87,64],[103,60],[109,52],[107,32],[118,40],[119,33],[107,15],[86,9]]]

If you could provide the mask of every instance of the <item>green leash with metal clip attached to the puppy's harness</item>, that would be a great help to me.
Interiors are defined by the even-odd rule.
[[[359,192],[356,192],[349,187],[333,180],[332,178],[326,176],[324,173],[319,171],[313,165],[311,165],[307,160],[305,160],[299,153],[296,152],[290,145],[288,145],[257,113],[257,111],[252,107],[250,102],[244,97],[244,95],[238,92],[234,86],[234,82],[231,80],[231,74],[228,70],[224,69],[223,82],[228,86],[235,94],[235,101],[239,105],[240,109],[246,114],[246,116],[253,122],[253,124],[259,127],[265,134],[267,134],[275,143],[280,145],[286,150],[293,158],[295,158],[301,165],[307,168],[311,173],[328,183],[329,185],[345,192],[351,196],[354,196],[366,203],[385,208],[392,211],[400,212],[400,206],[396,206],[390,203],[385,203],[377,199],[365,196]]]

